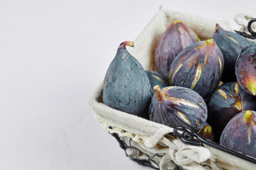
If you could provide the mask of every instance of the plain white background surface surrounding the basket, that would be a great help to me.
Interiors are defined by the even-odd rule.
[[[149,169],[125,157],[88,99],[160,5],[236,29],[237,13],[256,17],[252,0],[0,0],[1,170]]]

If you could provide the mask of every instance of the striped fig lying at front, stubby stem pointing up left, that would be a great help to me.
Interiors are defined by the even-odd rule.
[[[207,106],[195,91],[176,86],[154,87],[149,105],[149,119],[171,128],[184,126],[194,131],[204,127],[207,120]]]

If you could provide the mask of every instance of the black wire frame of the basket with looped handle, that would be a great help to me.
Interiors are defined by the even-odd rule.
[[[249,35],[245,32],[240,32],[240,31],[236,31],[236,33],[243,35],[246,38],[256,39],[256,32],[254,32],[251,27],[253,22],[256,22],[256,18],[250,20],[248,23],[248,26],[247,26],[247,29],[251,33],[251,35]],[[133,161],[136,161],[139,165],[148,166],[148,167],[159,170],[159,165],[157,164],[157,161],[155,161],[155,159],[163,157],[164,154],[163,155],[155,154],[153,156],[150,156],[150,155],[144,153],[142,148],[139,148],[139,147],[136,148],[135,146],[132,146],[133,141],[131,138],[129,138],[128,141],[124,141],[124,140],[122,140],[121,137],[119,137],[119,135],[117,133],[110,133],[110,134],[117,139],[120,147],[125,150],[125,154],[127,157],[129,157]],[[228,154],[234,155],[236,157],[239,157],[241,159],[244,159],[246,161],[256,164],[256,159],[247,157],[241,153],[235,152],[233,150],[229,150],[223,146],[220,146],[219,144],[208,141],[207,139],[200,137],[200,135],[198,135],[197,132],[194,132],[194,131],[192,131],[188,128],[182,127],[182,126],[178,126],[178,127],[174,128],[173,132],[168,133],[168,135],[171,135],[171,136],[175,137],[176,139],[180,139],[184,144],[188,144],[188,145],[192,145],[192,146],[203,146],[203,147],[205,144],[205,145],[211,146],[213,148],[216,148],[218,150],[221,150],[223,152],[226,152]],[[129,150],[133,150],[133,152],[134,151],[137,152],[137,155],[129,154]],[[141,159],[141,157],[140,158],[138,157],[141,155],[144,155],[144,159],[143,158]],[[168,170],[184,170],[184,168],[182,168],[181,166],[177,166],[173,161],[172,161],[172,166],[173,167]],[[204,166],[207,169],[208,168],[212,169],[210,166],[208,166],[206,164],[204,164],[202,166]]]

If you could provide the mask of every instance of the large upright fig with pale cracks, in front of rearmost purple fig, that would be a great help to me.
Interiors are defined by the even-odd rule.
[[[196,42],[173,60],[169,73],[172,86],[191,88],[204,99],[217,88],[224,59],[213,39]]]

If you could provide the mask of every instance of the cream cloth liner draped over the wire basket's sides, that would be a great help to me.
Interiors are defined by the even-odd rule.
[[[135,46],[127,48],[145,70],[155,70],[155,46],[174,20],[184,22],[201,40],[212,38],[216,23],[233,31],[229,22],[162,10],[137,37]],[[94,116],[117,139],[126,156],[137,163],[160,170],[256,170],[255,159],[204,140],[187,128],[170,128],[110,108],[102,102],[102,87],[103,82],[89,101]]]

